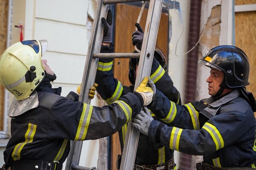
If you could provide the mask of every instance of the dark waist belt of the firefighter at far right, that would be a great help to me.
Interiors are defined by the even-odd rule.
[[[255,170],[252,167],[215,167],[205,162],[196,164],[197,170]]]

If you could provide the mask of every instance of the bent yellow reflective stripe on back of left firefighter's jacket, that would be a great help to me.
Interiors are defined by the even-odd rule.
[[[36,131],[37,125],[33,125],[31,123],[28,124],[28,129],[25,133],[25,142],[19,143],[14,147],[14,150],[12,151],[12,159],[14,161],[20,159],[20,153],[25,144],[33,142],[35,131]]]

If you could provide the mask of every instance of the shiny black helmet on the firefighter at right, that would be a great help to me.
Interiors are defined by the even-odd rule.
[[[224,88],[238,88],[249,85],[249,61],[240,48],[220,45],[208,51],[198,63],[224,72]]]

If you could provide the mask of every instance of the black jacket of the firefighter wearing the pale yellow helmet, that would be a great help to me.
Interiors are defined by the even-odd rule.
[[[142,97],[134,92],[111,105],[95,107],[79,102],[79,95],[74,92],[60,96],[56,94],[59,89],[43,81],[37,89],[38,107],[12,117],[12,137],[4,151],[6,167],[21,159],[62,164],[70,151],[70,140],[110,136],[131,121],[143,106]]]

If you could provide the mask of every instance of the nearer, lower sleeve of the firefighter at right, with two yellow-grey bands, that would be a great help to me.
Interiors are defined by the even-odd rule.
[[[248,121],[246,114],[241,112],[223,113],[213,116],[200,130],[189,130],[169,127],[154,120],[149,126],[148,136],[151,142],[160,143],[172,150],[191,155],[205,155],[235,142],[246,141],[249,131],[254,135],[255,132],[250,130]]]

